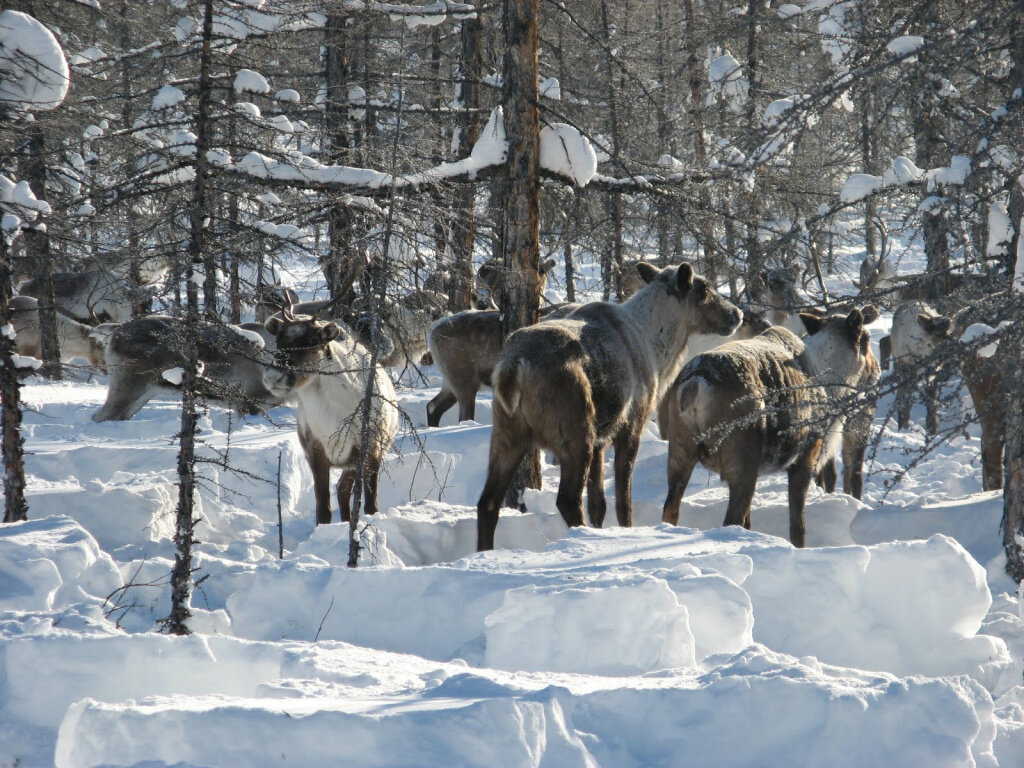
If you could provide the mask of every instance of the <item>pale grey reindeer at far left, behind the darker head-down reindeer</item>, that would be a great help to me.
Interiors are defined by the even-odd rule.
[[[40,286],[35,279],[20,283],[17,291],[23,296],[38,300]],[[131,286],[119,274],[106,269],[88,269],[82,272],[53,273],[53,301],[56,308],[79,323],[95,326],[100,323],[124,323],[131,319]],[[152,304],[150,292],[141,302],[146,309]]]

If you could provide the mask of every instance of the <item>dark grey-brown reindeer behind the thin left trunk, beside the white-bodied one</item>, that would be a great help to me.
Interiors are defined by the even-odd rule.
[[[178,391],[170,372],[187,365],[185,323],[180,317],[153,314],[118,326],[100,326],[93,338],[106,337],[109,374],[106,400],[92,415],[94,422],[127,421],[162,392]],[[256,414],[281,399],[263,386],[263,368],[270,362],[260,337],[252,329],[204,324],[198,346],[203,371],[200,394]]]

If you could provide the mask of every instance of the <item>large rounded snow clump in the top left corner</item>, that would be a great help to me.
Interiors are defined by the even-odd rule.
[[[68,94],[68,61],[49,30],[27,13],[0,13],[0,103],[53,110]]]

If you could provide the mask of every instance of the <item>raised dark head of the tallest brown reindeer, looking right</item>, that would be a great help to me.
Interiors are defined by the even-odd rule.
[[[637,263],[637,271],[648,287],[656,286],[657,290],[667,293],[670,301],[666,304],[671,308],[671,314],[666,316],[666,322],[684,326],[687,335],[701,333],[728,336],[739,328],[743,319],[739,307],[696,274],[688,262],[684,261],[678,267],[658,269],[640,261]],[[630,301],[639,296],[640,294],[636,294]]]

